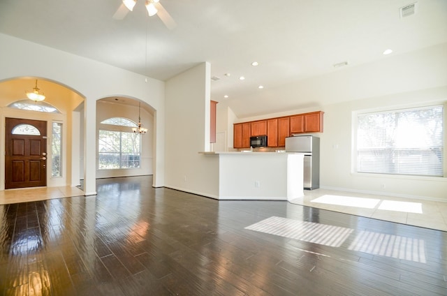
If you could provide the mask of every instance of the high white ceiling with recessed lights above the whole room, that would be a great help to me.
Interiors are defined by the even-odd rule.
[[[419,0],[416,15],[401,19],[399,8],[413,2],[161,0],[177,23],[169,30],[147,16],[144,0],[124,20],[112,18],[121,0],[1,0],[0,32],[159,80],[209,61],[220,78],[212,99],[247,116],[296,107],[291,85],[387,59],[387,48],[397,56],[447,43],[447,1]],[[349,65],[334,68],[342,61]],[[287,94],[276,109],[244,105],[272,101],[282,86]],[[302,106],[312,105],[305,100]]]

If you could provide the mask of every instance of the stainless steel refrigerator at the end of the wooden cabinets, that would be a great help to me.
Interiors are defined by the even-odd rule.
[[[286,138],[287,152],[301,152],[305,154],[304,188],[316,189],[320,187],[320,138],[314,135],[295,135]]]

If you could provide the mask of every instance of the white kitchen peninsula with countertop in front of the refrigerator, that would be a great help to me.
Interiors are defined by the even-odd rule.
[[[199,152],[217,158],[219,200],[292,200],[303,193],[304,154]]]

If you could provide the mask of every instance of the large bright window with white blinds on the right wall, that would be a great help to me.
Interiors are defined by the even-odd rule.
[[[444,108],[358,114],[357,172],[444,176]]]

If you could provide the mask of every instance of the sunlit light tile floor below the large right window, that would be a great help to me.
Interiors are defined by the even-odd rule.
[[[303,198],[291,202],[334,212],[447,231],[447,196],[446,202],[437,202],[318,188],[312,191],[305,190]]]

